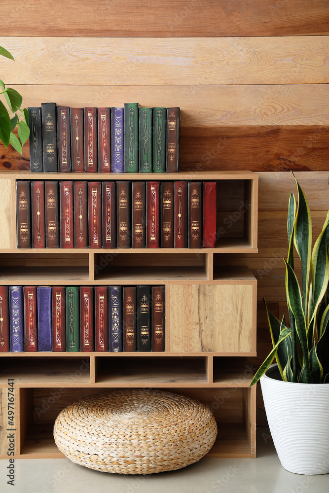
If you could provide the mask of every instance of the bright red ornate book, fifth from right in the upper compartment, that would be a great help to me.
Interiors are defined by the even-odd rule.
[[[160,182],[146,182],[146,248],[159,248]]]

